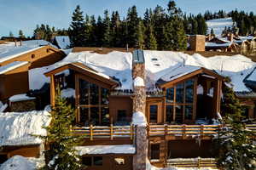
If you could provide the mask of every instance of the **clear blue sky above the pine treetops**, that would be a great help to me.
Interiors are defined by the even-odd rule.
[[[169,0],[0,0],[0,37],[8,36],[9,31],[17,35],[21,29],[31,36],[37,24],[49,24],[57,28],[67,28],[76,5],[86,14],[103,14],[103,10],[118,10],[125,16],[127,8],[137,5],[138,14],[145,8],[157,4],[166,7]],[[230,11],[239,9],[256,13],[256,0],[176,0],[177,6],[187,14],[204,13],[207,9]]]

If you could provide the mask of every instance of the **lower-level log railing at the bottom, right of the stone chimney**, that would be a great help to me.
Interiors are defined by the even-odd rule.
[[[214,158],[177,158],[177,159],[168,159],[168,167],[211,167],[217,168],[217,161]]]

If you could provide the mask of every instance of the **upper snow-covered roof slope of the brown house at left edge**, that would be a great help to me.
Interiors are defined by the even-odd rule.
[[[55,48],[55,46],[50,42],[46,42],[44,40],[24,41],[22,42],[22,46],[20,46],[20,42],[17,42],[16,47],[15,42],[0,44],[0,63],[9,59],[14,59],[21,54],[32,52],[38,48],[43,48],[45,45],[50,45]]]

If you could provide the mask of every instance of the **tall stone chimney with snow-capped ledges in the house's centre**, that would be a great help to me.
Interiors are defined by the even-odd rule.
[[[148,159],[148,138],[145,88],[145,59],[143,50],[135,50],[132,55],[132,79],[133,79],[133,116],[132,122],[136,126],[136,155],[133,157],[133,170],[146,170]],[[141,120],[142,119],[142,120]],[[135,123],[143,122],[143,123]]]

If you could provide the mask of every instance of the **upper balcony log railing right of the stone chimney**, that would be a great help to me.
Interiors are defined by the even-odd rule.
[[[223,125],[149,125],[149,136],[214,136],[218,134]],[[256,132],[256,124],[247,124],[248,130]]]

